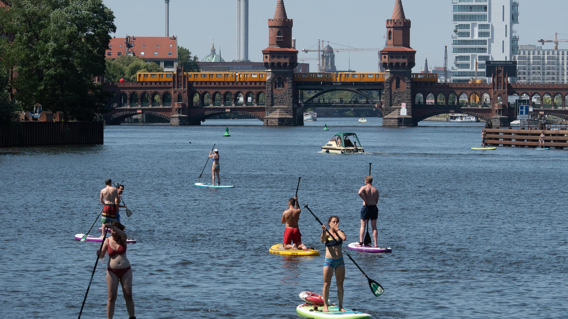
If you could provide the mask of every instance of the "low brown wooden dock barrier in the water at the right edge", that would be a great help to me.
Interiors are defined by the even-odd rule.
[[[568,148],[567,129],[512,129],[509,127],[484,128],[483,131],[487,132],[487,145],[536,148],[538,138],[544,132],[544,144],[547,148]]]

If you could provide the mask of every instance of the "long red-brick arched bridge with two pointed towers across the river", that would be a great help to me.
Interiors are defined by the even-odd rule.
[[[219,76],[209,73],[206,81],[197,81],[178,69],[171,81],[105,82],[105,90],[113,97],[108,105],[110,111],[103,116],[107,124],[120,124],[136,114],[151,114],[172,125],[199,125],[208,117],[235,112],[259,119],[264,125],[303,125],[303,112],[308,106],[349,107],[377,108],[383,114],[382,125],[389,127],[416,126],[428,117],[456,112],[474,115],[491,128],[506,127],[516,119],[515,104],[508,103],[508,96],[518,95],[531,100],[549,96],[549,104],[533,103],[532,114],[568,119],[565,84],[509,83],[500,67],[493,73],[491,83],[438,83],[437,74],[412,73],[416,51],[410,47],[410,24],[402,1],[396,0],[392,18],[386,20],[387,45],[380,52],[385,74],[379,79],[353,81],[350,77],[336,78],[335,74],[329,78],[329,73],[294,73],[298,51],[292,45],[293,20],[287,18],[283,0],[278,0],[274,18],[268,20],[269,45],[262,50],[266,74],[259,73],[262,76],[256,78],[240,78],[237,74],[215,81]],[[304,90],[317,93],[302,100]],[[320,103],[318,98],[331,91],[354,92],[370,102]],[[370,98],[369,91],[382,93],[379,103]],[[458,101],[462,96],[467,99]],[[158,98],[159,102],[154,102]],[[401,112],[403,106],[406,115]]]

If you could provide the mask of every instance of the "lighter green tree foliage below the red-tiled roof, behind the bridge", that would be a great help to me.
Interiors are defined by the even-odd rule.
[[[105,81],[118,82],[124,78],[125,82],[136,82],[138,72],[164,72],[164,68],[156,62],[147,63],[145,58],[122,55],[111,60],[106,60]]]

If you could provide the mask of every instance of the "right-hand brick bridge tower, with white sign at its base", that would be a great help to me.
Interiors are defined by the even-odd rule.
[[[414,126],[411,78],[416,50],[410,47],[410,20],[404,16],[402,0],[396,0],[386,27],[387,44],[381,50],[385,69],[383,126]],[[406,103],[407,115],[400,115],[402,103]]]

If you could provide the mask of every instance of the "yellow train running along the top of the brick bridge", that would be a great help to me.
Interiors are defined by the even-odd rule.
[[[266,72],[186,72],[189,82],[252,82],[266,81]],[[165,81],[171,82],[173,73],[154,72],[138,73],[138,82]],[[385,82],[385,73],[355,73],[355,72],[316,72],[294,73],[294,81],[298,82]],[[413,82],[438,82],[436,73],[412,73]]]

